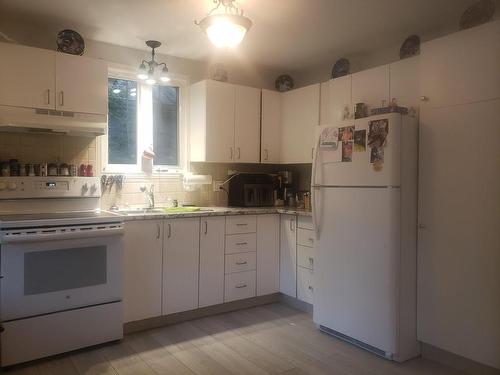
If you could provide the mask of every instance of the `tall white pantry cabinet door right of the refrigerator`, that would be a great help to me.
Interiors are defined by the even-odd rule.
[[[499,118],[500,99],[422,108],[417,267],[418,339],[497,367]]]

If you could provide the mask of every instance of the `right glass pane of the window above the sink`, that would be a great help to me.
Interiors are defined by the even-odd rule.
[[[155,165],[179,165],[178,108],[178,87],[153,87],[153,147]]]

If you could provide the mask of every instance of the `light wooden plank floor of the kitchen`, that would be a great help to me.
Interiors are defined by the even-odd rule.
[[[318,331],[284,304],[126,336],[16,366],[9,375],[463,375],[425,359],[397,364]]]

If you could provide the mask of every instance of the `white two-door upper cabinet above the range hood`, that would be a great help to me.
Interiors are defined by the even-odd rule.
[[[0,43],[0,105],[108,113],[106,62]]]

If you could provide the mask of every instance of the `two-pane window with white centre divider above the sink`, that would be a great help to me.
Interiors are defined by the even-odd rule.
[[[104,171],[141,172],[143,153],[151,147],[155,171],[181,166],[179,86],[150,86],[132,79],[109,78],[108,98]]]

